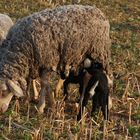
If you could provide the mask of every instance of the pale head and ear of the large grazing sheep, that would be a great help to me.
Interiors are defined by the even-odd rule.
[[[0,112],[5,112],[13,96],[22,97],[22,89],[12,80],[0,80]]]

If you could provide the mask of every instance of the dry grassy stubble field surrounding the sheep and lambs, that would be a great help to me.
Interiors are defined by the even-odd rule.
[[[45,8],[78,0],[0,0],[0,13],[18,19]],[[113,108],[106,124],[101,113],[90,117],[89,102],[81,122],[76,121],[76,86],[71,102],[57,98],[54,112],[38,115],[36,104],[13,100],[0,114],[0,140],[139,140],[140,139],[140,0],[81,0],[100,8],[111,25],[111,67],[114,75]],[[54,88],[56,81],[52,81]]]

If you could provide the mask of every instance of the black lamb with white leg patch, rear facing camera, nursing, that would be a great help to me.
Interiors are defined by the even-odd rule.
[[[89,98],[92,99],[92,113],[98,107],[101,107],[104,119],[108,120],[111,98],[109,96],[108,78],[103,71],[102,65],[95,63],[90,68],[90,71],[83,76],[83,83],[87,77],[89,77],[89,80],[88,83],[86,82],[87,86],[80,99],[80,111],[77,115],[77,120],[81,119],[83,108],[87,105]]]

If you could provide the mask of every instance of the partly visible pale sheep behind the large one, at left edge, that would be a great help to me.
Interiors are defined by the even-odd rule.
[[[6,14],[0,14],[0,45],[6,38],[9,29],[13,26],[13,21]]]

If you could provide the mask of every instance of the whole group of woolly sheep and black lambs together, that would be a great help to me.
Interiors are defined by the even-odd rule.
[[[89,99],[92,112],[101,107],[107,120],[112,86],[109,31],[109,21],[95,6],[46,9],[14,25],[0,14],[0,111],[8,109],[13,96],[30,94],[30,83],[37,78],[41,84],[38,110],[44,112],[46,94],[52,108],[55,100],[49,81],[55,72],[63,81],[65,100],[68,84],[80,85],[77,120]]]

